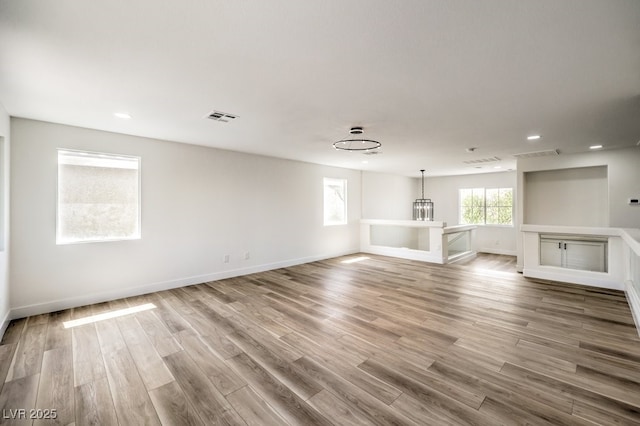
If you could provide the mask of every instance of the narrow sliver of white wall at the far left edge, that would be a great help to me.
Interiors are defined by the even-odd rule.
[[[0,336],[9,319],[9,114],[0,103]]]

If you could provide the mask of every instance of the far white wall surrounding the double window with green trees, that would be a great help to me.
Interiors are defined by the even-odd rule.
[[[460,188],[513,188],[515,205],[518,198],[516,184],[516,172],[428,177],[425,179],[424,195],[434,203],[434,219],[451,226],[459,224]],[[483,253],[515,255],[516,235],[516,227],[512,226],[479,226],[475,231],[473,249]]]

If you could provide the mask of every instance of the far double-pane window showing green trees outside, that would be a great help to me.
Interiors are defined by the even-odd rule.
[[[513,225],[513,188],[460,189],[460,223]]]

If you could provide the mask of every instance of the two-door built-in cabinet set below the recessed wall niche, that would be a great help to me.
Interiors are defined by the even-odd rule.
[[[607,238],[540,234],[540,265],[607,272]]]

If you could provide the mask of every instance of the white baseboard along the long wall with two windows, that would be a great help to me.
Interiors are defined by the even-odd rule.
[[[179,278],[175,280],[156,282],[142,286],[117,289],[101,293],[85,294],[77,297],[59,299],[45,303],[36,303],[33,305],[20,306],[13,308],[7,314],[3,327],[6,328],[9,320],[29,317],[32,315],[40,315],[48,312],[56,312],[64,309],[77,308],[79,306],[91,305],[94,303],[107,302],[109,300],[121,299],[123,297],[139,296],[141,294],[153,293],[156,291],[170,290],[173,288],[185,287],[193,284],[201,284],[210,281],[222,280],[225,278],[239,277],[242,275],[255,274],[258,272],[270,271],[273,269],[286,268],[289,266],[301,265],[304,263],[315,262],[318,260],[330,259],[332,257],[346,256],[349,254],[359,253],[359,249],[347,250],[339,253],[327,255],[309,256],[298,259],[284,260],[281,262],[268,263],[263,265],[255,265],[247,268],[232,269],[228,271],[212,272],[210,274],[196,275],[192,277]],[[5,324],[6,323],[6,324]],[[3,331],[4,332],[4,331]],[[0,334],[2,336],[2,334]]]

